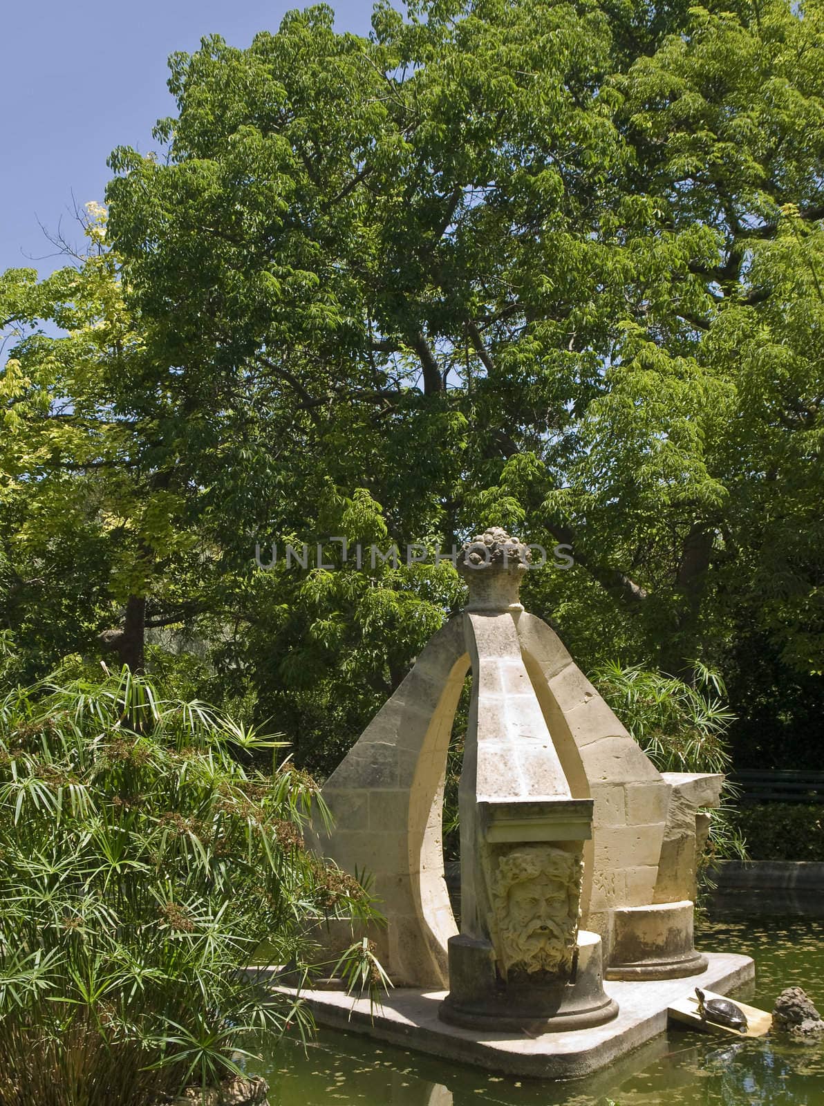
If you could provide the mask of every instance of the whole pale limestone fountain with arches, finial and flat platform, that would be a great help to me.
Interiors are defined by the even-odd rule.
[[[382,1009],[334,991],[322,1023],[515,1074],[584,1074],[666,1027],[671,1001],[729,990],[752,961],[692,942],[696,863],[720,775],[660,773],[519,602],[525,545],[467,543],[469,602],[331,775],[313,846],[373,876]],[[444,878],[452,720],[472,696],[459,787],[461,926]],[[351,936],[330,935],[334,943]]]

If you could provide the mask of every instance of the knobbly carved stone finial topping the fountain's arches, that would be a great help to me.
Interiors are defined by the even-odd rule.
[[[469,584],[467,611],[523,611],[518,602],[529,549],[501,526],[490,526],[466,542],[457,559],[459,574]]]

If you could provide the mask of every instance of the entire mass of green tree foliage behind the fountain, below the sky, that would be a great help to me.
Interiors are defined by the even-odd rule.
[[[572,546],[524,591],[587,670],[699,657],[792,734],[824,702],[823,17],[416,0],[359,36],[317,4],[173,55],[94,264],[0,283],[29,670],[175,627],[201,695],[325,770],[460,599],[326,539],[501,523]],[[340,571],[254,565],[304,540]]]

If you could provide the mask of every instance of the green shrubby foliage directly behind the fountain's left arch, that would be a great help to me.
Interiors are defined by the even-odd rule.
[[[290,508],[291,510],[291,508]],[[463,587],[449,563],[383,564],[371,546],[390,544],[385,512],[365,489],[352,497],[326,492],[293,541],[310,546],[307,571],[285,561],[286,540],[270,571],[242,566],[226,581],[223,596],[234,623],[211,658],[216,674],[209,693],[220,701],[243,674],[255,695],[255,717],[274,717],[294,738],[299,763],[327,774],[353,739],[406,676],[410,660],[440,628],[446,612],[461,605]],[[341,543],[322,543],[316,567],[314,517],[321,534],[342,535],[350,551],[363,551],[362,567]],[[261,549],[262,564],[271,545]],[[231,587],[231,592],[229,588]],[[201,618],[212,640],[218,619]]]

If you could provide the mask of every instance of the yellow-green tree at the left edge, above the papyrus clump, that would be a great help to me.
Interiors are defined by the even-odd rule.
[[[101,645],[139,671],[146,628],[179,622],[208,587],[161,399],[131,384],[145,344],[104,208],[88,206],[85,233],[87,251],[46,280],[0,278],[0,599],[23,679]]]

